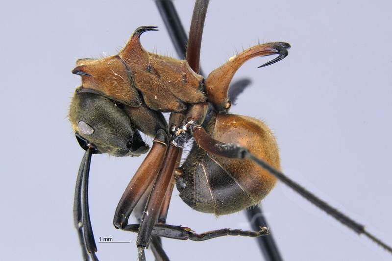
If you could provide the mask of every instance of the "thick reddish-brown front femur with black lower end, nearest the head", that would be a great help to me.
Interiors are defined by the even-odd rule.
[[[166,132],[162,129],[158,130],[151,150],[132,177],[117,205],[113,219],[113,224],[116,228],[123,228],[128,224],[129,215],[161,168],[167,144],[168,136]]]

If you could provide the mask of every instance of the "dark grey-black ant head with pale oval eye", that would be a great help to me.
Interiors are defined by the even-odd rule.
[[[84,88],[78,88],[70,105],[70,121],[83,149],[93,154],[140,156],[148,151],[139,131],[122,104]]]

